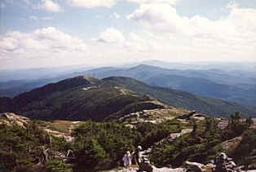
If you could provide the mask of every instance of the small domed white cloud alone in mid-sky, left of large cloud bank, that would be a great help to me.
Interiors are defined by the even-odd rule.
[[[99,37],[95,39],[98,42],[105,42],[105,43],[117,43],[117,42],[124,42],[126,38],[124,37],[123,33],[121,33],[117,29],[108,28],[104,30],[104,32],[99,34]]]

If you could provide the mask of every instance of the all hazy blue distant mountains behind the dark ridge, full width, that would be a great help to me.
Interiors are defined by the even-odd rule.
[[[149,63],[149,62],[148,62]],[[158,62],[157,64],[159,64]],[[152,61],[152,64],[156,62]],[[160,65],[160,64],[159,64]],[[166,64],[167,65],[167,64]],[[60,82],[79,75],[104,77],[131,77],[151,86],[184,90],[195,95],[218,98],[243,104],[247,108],[256,107],[256,77],[251,71],[211,69],[170,69],[139,64],[131,68],[104,67],[86,69],[78,72],[62,73],[57,77],[46,77],[37,80],[18,80],[2,82],[0,96],[19,95],[38,86],[51,82]]]

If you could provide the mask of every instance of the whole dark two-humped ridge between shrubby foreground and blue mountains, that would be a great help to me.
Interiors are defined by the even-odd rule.
[[[32,119],[102,121],[108,116],[125,116],[141,109],[174,106],[196,110],[214,117],[229,117],[239,111],[244,117],[255,117],[253,110],[221,99],[172,90],[129,77],[72,77],[1,98],[2,112],[16,112]],[[8,109],[9,108],[9,109]],[[11,109],[10,109],[11,108]]]

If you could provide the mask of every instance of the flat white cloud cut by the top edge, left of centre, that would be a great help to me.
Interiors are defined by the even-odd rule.
[[[69,0],[73,7],[113,7],[116,4],[115,0]]]

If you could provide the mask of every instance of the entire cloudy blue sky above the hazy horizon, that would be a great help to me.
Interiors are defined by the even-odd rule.
[[[256,0],[1,0],[0,68],[256,63]]]

